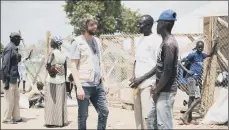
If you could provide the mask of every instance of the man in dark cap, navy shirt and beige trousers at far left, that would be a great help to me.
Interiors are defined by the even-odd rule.
[[[6,109],[4,112],[3,123],[21,122],[19,110],[19,89],[17,86],[18,73],[18,52],[17,46],[21,41],[21,35],[17,32],[10,34],[10,43],[4,48],[2,58],[2,72],[4,83],[4,97]]]

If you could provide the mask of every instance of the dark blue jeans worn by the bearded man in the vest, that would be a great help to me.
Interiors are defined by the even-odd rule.
[[[88,117],[89,100],[98,113],[97,129],[106,129],[107,117],[109,114],[106,93],[102,84],[98,86],[83,87],[85,98],[78,101],[78,129],[87,129],[86,122]]]

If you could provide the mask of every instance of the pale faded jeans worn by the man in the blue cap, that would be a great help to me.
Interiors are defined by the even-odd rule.
[[[173,129],[173,104],[176,92],[161,92],[156,104],[153,103],[148,119],[147,129]]]

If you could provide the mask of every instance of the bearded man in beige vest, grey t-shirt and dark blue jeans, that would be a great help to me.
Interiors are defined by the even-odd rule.
[[[101,42],[95,37],[97,22],[89,14],[79,20],[81,35],[77,36],[70,50],[70,59],[73,67],[74,81],[77,86],[78,101],[78,129],[86,129],[89,101],[98,112],[97,129],[106,129],[108,106],[102,79]]]

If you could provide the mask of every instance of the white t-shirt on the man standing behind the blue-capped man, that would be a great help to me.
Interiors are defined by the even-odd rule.
[[[135,76],[136,78],[143,76],[152,70],[157,63],[157,53],[161,44],[161,38],[151,34],[142,36],[135,48]],[[140,89],[156,83],[156,76],[145,80],[139,85]]]

